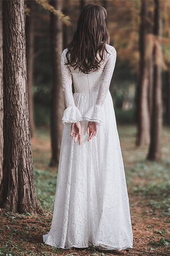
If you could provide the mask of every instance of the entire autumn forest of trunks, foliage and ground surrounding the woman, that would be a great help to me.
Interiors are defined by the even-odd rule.
[[[107,10],[117,51],[109,90],[134,236],[121,252],[42,242],[63,132],[61,53],[88,3]],[[170,0],[0,1],[0,255],[170,255],[169,155]]]

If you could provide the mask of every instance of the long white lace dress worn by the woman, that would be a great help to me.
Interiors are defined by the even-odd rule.
[[[133,247],[124,163],[109,91],[116,49],[107,44],[107,50],[101,68],[90,74],[64,65],[67,48],[61,55],[66,109],[53,220],[48,234],[43,235],[46,244],[58,248]],[[71,123],[77,121],[82,123],[80,145],[70,136]],[[98,122],[96,136],[90,141],[88,121]]]

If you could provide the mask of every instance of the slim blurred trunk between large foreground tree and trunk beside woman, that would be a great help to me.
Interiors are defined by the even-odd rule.
[[[35,137],[35,122],[33,118],[33,40],[34,40],[34,1],[27,0],[29,7],[29,16],[26,16],[26,52],[27,52],[27,84],[28,84],[28,109],[31,137]]]

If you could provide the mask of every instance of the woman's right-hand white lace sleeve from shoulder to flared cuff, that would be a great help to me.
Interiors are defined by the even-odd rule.
[[[109,53],[111,53],[111,55],[108,56],[103,69],[103,76],[99,85],[96,103],[90,109],[88,109],[87,113],[84,115],[84,119],[88,121],[95,121],[99,123],[103,122],[103,105],[105,97],[109,91],[109,86],[111,84],[111,79],[116,64],[116,49],[113,47]]]

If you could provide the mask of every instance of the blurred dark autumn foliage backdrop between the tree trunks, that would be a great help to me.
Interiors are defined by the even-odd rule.
[[[32,1],[33,2],[33,1]],[[102,5],[108,11],[107,27],[111,36],[110,44],[116,48],[117,63],[110,87],[117,114],[117,121],[121,124],[135,124],[135,109],[137,94],[137,77],[140,75],[140,24],[141,2],[138,0],[114,1],[62,1],[62,12],[69,15],[71,25],[63,25],[63,48],[72,39],[76,29],[79,13],[86,3]],[[154,1],[144,1],[146,5],[146,34],[152,35],[154,30]],[[169,87],[169,1],[162,2],[163,42],[162,54],[162,93],[163,93],[163,122],[168,125],[168,87]],[[50,90],[53,83],[52,47],[50,36],[50,11],[35,3],[35,15],[32,32],[34,32],[33,49],[33,101],[35,104],[35,125],[49,126],[50,117]],[[29,14],[29,13],[28,13]],[[32,15],[32,14],[30,14]],[[29,17],[31,18],[31,17]],[[145,28],[143,28],[145,30]],[[145,33],[145,32],[144,32]],[[141,39],[142,40],[142,39]],[[147,40],[147,39],[146,39]],[[148,38],[147,48],[152,47]],[[144,42],[143,42],[144,43]],[[148,49],[151,51],[151,49]],[[141,71],[142,72],[142,71]]]

